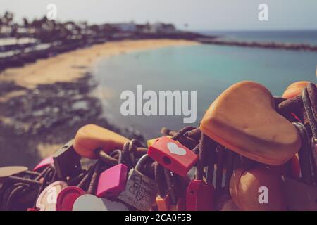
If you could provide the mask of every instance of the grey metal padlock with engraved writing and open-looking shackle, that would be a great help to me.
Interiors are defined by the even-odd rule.
[[[143,155],[135,168],[130,169],[125,191],[118,196],[118,199],[142,211],[151,208],[158,191],[154,179],[142,174],[142,168],[149,159],[149,155]]]

